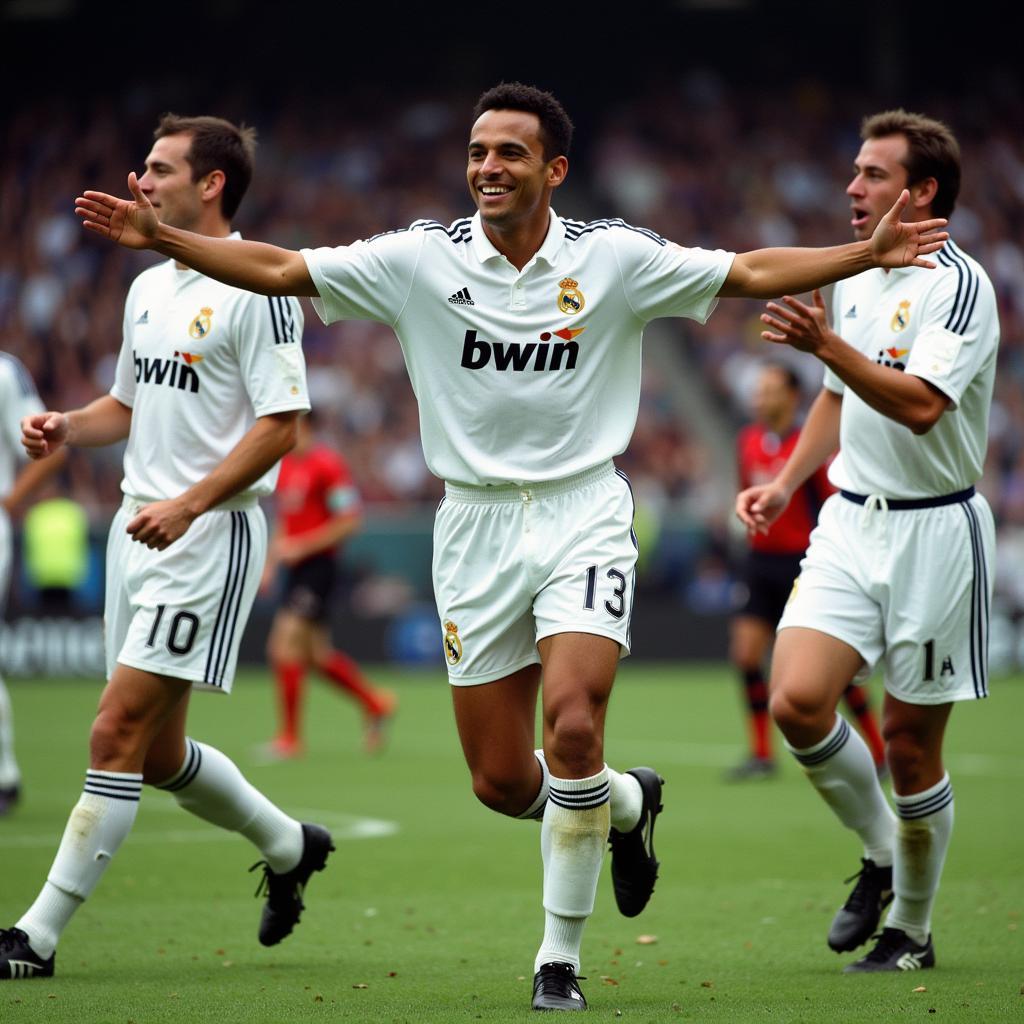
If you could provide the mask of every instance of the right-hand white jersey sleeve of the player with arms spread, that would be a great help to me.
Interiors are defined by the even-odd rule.
[[[735,253],[686,249],[653,231],[614,229],[614,252],[627,301],[644,323],[662,316],[707,322]]]

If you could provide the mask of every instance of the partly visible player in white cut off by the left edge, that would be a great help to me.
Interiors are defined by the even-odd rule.
[[[29,463],[17,469],[25,458],[22,447],[22,418],[40,413],[43,404],[29,371],[7,352],[0,352],[0,618],[3,617],[7,588],[13,568],[10,514],[63,464],[60,458],[48,463]],[[0,676],[0,815],[17,803],[22,773],[14,757],[14,714],[10,695]]]

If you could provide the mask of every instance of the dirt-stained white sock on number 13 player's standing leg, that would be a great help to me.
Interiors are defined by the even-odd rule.
[[[554,778],[541,825],[544,860],[544,939],[534,971],[543,964],[580,970],[583,929],[594,911],[597,880],[608,839],[608,772],[590,778]]]

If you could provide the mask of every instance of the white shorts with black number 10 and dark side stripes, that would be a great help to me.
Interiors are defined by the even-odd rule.
[[[229,503],[228,503],[229,505]],[[125,499],[106,544],[106,676],[118,663],[229,693],[266,560],[259,506],[220,506],[164,551],[125,527],[144,503]]]

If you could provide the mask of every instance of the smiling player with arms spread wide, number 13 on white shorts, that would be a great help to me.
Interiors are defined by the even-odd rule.
[[[290,252],[161,225],[135,202],[78,200],[87,227],[273,295],[308,295],[326,322],[394,328],[420,408],[424,454],[446,481],[434,589],[456,722],[488,807],[542,817],[545,932],[534,1007],[582,1010],[577,974],[604,843],[627,915],[657,874],[662,780],[604,764],[604,715],[629,651],[633,501],[611,462],[629,443],[644,325],[703,322],[718,296],[781,294],[874,265],[927,265],[941,221],[870,243],[734,256],[684,249],[622,221],[550,208],[572,125],[549,93],[503,84],[477,103],[467,181],[477,207],[450,226]],[[535,711],[544,677],[544,746]]]

